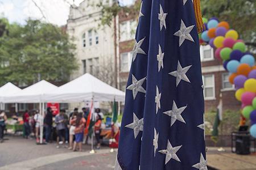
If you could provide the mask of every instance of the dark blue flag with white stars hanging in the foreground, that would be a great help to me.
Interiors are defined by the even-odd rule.
[[[193,1],[142,1],[119,169],[207,169],[203,90]]]

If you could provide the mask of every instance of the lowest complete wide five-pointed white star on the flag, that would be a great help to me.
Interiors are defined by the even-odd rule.
[[[160,150],[158,152],[162,153],[162,154],[166,154],[166,164],[171,160],[174,159],[177,162],[180,162],[180,159],[178,158],[178,156],[176,155],[176,152],[179,151],[179,149],[181,148],[182,145],[180,146],[176,146],[176,147],[172,147],[170,141],[168,140],[167,142],[167,148],[166,150]]]

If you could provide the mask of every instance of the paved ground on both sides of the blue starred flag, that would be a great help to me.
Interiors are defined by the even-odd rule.
[[[110,153],[102,147],[96,154],[89,154],[90,146],[84,145],[84,152],[72,152],[67,148],[56,148],[55,143],[36,145],[33,139],[6,136],[9,140],[0,144],[0,170],[109,170],[114,168],[116,152]],[[230,148],[217,151],[208,147],[209,169],[256,169],[256,155],[232,154]]]

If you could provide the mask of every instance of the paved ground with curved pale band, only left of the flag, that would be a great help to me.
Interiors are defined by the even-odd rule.
[[[35,140],[7,136],[9,140],[0,145],[0,170],[28,169],[113,169],[115,154],[103,147],[96,154],[72,152],[67,148],[56,148],[55,143],[36,145]]]

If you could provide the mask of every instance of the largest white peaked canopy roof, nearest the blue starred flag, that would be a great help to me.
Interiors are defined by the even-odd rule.
[[[52,103],[79,103],[84,101],[125,101],[120,91],[86,73],[45,95],[44,101]]]

